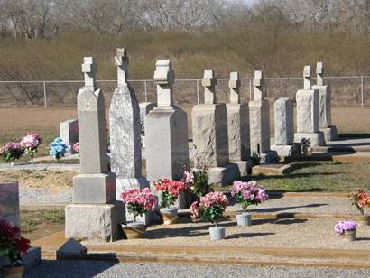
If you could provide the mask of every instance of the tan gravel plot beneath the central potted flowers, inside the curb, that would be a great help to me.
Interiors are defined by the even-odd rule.
[[[149,227],[143,239],[114,243],[90,240],[82,244],[370,249],[370,226],[360,224],[357,240],[347,242],[334,232],[333,227],[338,219],[332,218],[257,219],[250,227],[237,227],[236,221],[225,221],[220,226],[226,227],[227,238],[218,242],[209,240],[208,227],[211,226],[208,223],[190,223],[190,218],[181,220],[184,223]]]

